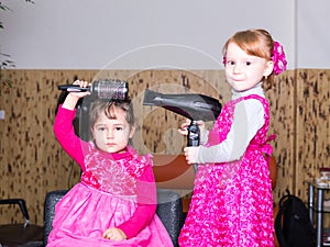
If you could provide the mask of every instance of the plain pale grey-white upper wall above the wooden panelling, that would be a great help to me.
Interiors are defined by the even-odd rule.
[[[289,68],[330,68],[328,0],[34,1],[1,1],[0,48],[16,68],[218,69],[226,40],[250,27],[284,44]]]

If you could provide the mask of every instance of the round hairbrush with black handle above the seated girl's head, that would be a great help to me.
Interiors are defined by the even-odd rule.
[[[89,91],[92,97],[101,100],[125,100],[129,93],[129,83],[118,79],[94,81],[90,87],[80,88],[78,85],[59,85],[59,90],[67,92]]]

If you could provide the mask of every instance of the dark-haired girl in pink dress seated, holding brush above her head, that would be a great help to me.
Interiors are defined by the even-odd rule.
[[[82,175],[56,204],[47,246],[173,246],[155,214],[152,157],[128,145],[134,133],[130,101],[92,102],[94,141],[87,143],[75,135],[73,126],[77,101],[87,94],[70,92],[55,119],[55,136]]]

